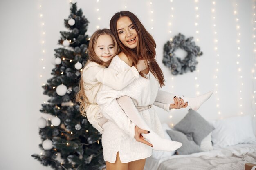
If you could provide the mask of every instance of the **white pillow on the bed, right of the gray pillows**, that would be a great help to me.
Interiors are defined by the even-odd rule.
[[[213,121],[213,146],[225,147],[256,141],[250,115]]]

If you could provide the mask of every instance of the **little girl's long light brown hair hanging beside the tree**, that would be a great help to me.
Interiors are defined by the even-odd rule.
[[[110,35],[110,37],[113,39],[113,42],[115,44],[115,55],[117,55],[119,53],[119,48],[117,45],[117,41],[114,37],[114,35],[112,34],[112,32],[110,31],[110,29],[99,29],[97,31],[95,31],[92,34],[92,37],[90,38],[90,42],[89,42],[89,47],[88,47],[88,55],[89,55],[89,59],[88,62],[85,64],[85,66],[89,63],[89,62],[96,62],[97,64],[100,64],[101,66],[109,66],[110,61],[108,62],[103,62],[102,60],[99,59],[99,57],[96,55],[95,51],[94,51],[94,47],[97,43],[97,40],[99,38],[99,36],[101,35]],[[83,69],[85,68],[85,66],[83,67]],[[85,88],[84,88],[85,83],[83,82],[83,71],[81,71],[81,78],[80,78],[80,82],[79,82],[79,91],[76,94],[76,102],[79,102],[80,107],[80,113],[82,116],[86,117],[86,111],[85,109],[88,107],[88,98],[85,95]],[[86,89],[88,90],[88,89]],[[91,90],[91,89],[89,89]]]

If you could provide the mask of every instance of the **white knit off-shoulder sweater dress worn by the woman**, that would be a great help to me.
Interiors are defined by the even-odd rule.
[[[130,68],[128,64],[122,61],[118,56],[115,56],[109,68],[117,71],[125,71]],[[110,163],[115,163],[117,152],[122,163],[144,159],[152,154],[152,147],[137,142],[134,136],[135,124],[130,122],[124,111],[117,103],[117,98],[121,96],[129,96],[132,98],[135,106],[147,106],[153,104],[157,97],[159,82],[155,79],[152,73],[147,75],[149,79],[139,77],[131,84],[120,91],[112,90],[108,86],[103,86],[102,91],[97,95],[97,103],[101,107],[103,115],[109,121],[103,124],[102,146],[104,160]],[[158,94],[159,95],[159,94]],[[161,94],[163,95],[163,93]],[[161,98],[161,96],[158,96]],[[163,98],[161,98],[163,99]],[[160,104],[158,106],[169,110],[170,104]],[[164,137],[161,122],[151,107],[148,110],[139,112],[148,126],[159,136]]]

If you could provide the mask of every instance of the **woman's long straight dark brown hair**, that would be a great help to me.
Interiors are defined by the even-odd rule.
[[[126,46],[124,46],[124,44],[121,43],[121,41],[118,38],[117,21],[119,20],[119,18],[124,16],[127,16],[130,18],[137,32],[139,41],[138,41],[138,46],[135,49],[127,48]],[[141,24],[137,16],[131,13],[130,11],[120,11],[115,13],[115,15],[113,15],[113,17],[110,20],[110,30],[114,34],[120,50],[124,52],[124,54],[129,58],[129,60],[132,60],[132,65],[133,66],[136,65],[139,59],[149,60],[150,61],[150,64],[148,66],[149,71],[152,72],[155,78],[158,80],[160,87],[164,86],[163,72],[159,67],[159,65],[157,64],[157,61],[155,60],[155,55],[156,55],[155,40],[148,33],[145,27]],[[142,77],[146,77],[141,72],[139,74]]]

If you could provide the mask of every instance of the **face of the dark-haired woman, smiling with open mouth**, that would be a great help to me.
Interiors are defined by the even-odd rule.
[[[117,20],[117,34],[121,43],[129,49],[138,45],[138,36],[134,25],[129,17],[124,16]]]

